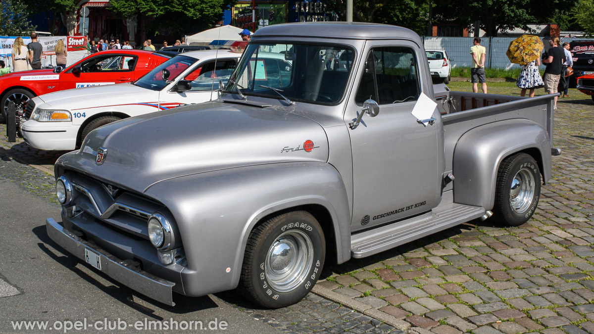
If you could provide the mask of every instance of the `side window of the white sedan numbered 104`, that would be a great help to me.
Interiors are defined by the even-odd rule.
[[[223,80],[223,84],[226,84],[233,70],[235,70],[237,63],[235,59],[219,60],[216,62],[216,68],[214,66],[214,61],[207,62],[186,75],[184,80],[192,81],[192,89],[188,92],[203,92],[205,90],[218,89],[219,80]]]

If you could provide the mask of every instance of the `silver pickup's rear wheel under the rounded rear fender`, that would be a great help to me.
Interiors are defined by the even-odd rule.
[[[532,156],[517,153],[505,158],[497,174],[497,220],[506,226],[522,225],[532,217],[540,195],[541,172]]]

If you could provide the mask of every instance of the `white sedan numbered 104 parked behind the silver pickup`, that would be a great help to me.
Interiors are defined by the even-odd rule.
[[[290,67],[291,61],[284,55],[270,55],[273,59],[267,62],[268,70],[273,65]],[[34,97],[27,106],[29,120],[21,122],[21,133],[37,149],[74,150],[90,131],[110,122],[217,99],[219,80],[226,83],[240,56],[226,49],[185,52],[133,83]]]

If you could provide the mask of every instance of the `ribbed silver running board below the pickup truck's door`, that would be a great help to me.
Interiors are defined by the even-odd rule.
[[[355,259],[381,253],[451,226],[480,218],[485,213],[482,207],[457,203],[436,207],[421,216],[351,235],[350,251]]]

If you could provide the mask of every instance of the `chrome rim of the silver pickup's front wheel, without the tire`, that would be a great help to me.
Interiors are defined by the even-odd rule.
[[[313,261],[313,244],[307,234],[287,231],[268,249],[264,272],[276,291],[287,292],[305,281]]]

